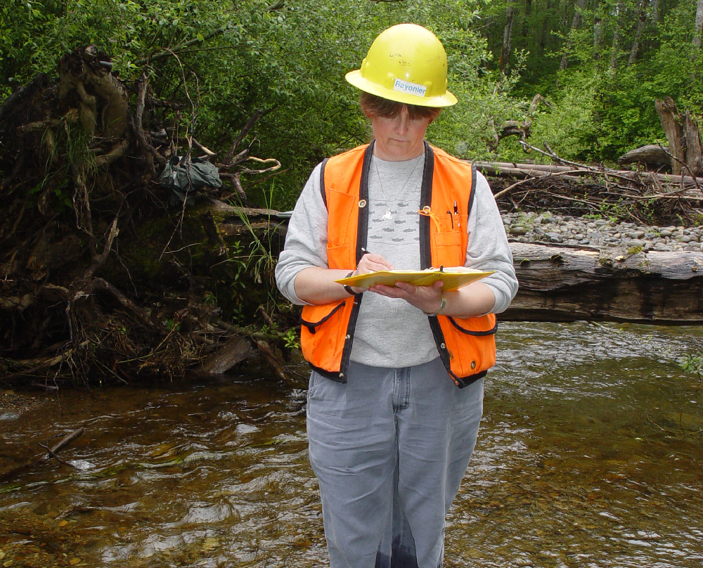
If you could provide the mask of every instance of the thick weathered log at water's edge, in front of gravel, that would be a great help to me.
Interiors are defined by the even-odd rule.
[[[702,252],[526,243],[510,249],[520,290],[503,320],[703,323]]]

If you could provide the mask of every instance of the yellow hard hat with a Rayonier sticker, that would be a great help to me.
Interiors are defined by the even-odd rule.
[[[415,24],[389,27],[373,41],[361,68],[346,79],[362,91],[408,105],[446,107],[446,52],[430,30]]]

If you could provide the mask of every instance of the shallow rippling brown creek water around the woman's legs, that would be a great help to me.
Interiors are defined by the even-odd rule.
[[[702,566],[703,392],[676,364],[702,337],[501,324],[445,566]],[[66,389],[1,421],[0,472],[86,433],[60,454],[79,469],[0,484],[0,565],[325,565],[305,392],[259,375]]]

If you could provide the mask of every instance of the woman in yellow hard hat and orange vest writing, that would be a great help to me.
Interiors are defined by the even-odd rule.
[[[456,103],[439,39],[391,27],[347,81],[362,91],[373,141],[314,169],[276,280],[304,306],[309,456],[333,568],[436,568],[495,362],[494,314],[517,280],[488,183],[425,142]],[[495,272],[444,294],[441,282],[336,282],[440,265]]]

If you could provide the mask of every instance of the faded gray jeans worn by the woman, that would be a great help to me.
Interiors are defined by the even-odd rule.
[[[347,384],[313,372],[310,463],[332,568],[438,568],[444,518],[476,444],[483,381],[458,389],[439,358],[350,363]]]

